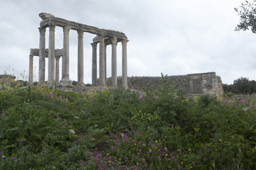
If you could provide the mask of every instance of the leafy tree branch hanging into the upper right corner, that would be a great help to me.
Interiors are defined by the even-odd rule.
[[[235,27],[235,30],[252,30],[256,33],[256,0],[253,2],[245,1],[238,8],[235,8],[240,16],[240,23]]]

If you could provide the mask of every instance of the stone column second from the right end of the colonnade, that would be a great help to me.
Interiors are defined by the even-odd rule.
[[[111,38],[112,42],[112,86],[117,86],[117,38]]]

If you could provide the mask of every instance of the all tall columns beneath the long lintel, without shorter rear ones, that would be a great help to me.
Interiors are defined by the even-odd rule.
[[[46,28],[39,28],[39,83],[45,81],[46,72]],[[63,63],[60,86],[72,87],[69,79],[69,31],[70,27],[63,27]],[[84,59],[83,59],[83,31],[78,31],[78,85],[84,86]],[[106,86],[106,46],[105,36],[98,35],[100,39],[100,86]],[[117,38],[111,38],[112,42],[112,86],[117,86]],[[58,82],[55,75],[55,26],[49,26],[48,43],[48,86]],[[56,62],[57,64],[57,62]],[[56,67],[58,67],[56,65]],[[57,74],[56,70],[56,74]],[[55,79],[56,77],[56,79]],[[92,86],[97,81],[97,43],[92,43]],[[127,88],[127,40],[122,40],[122,86]]]

